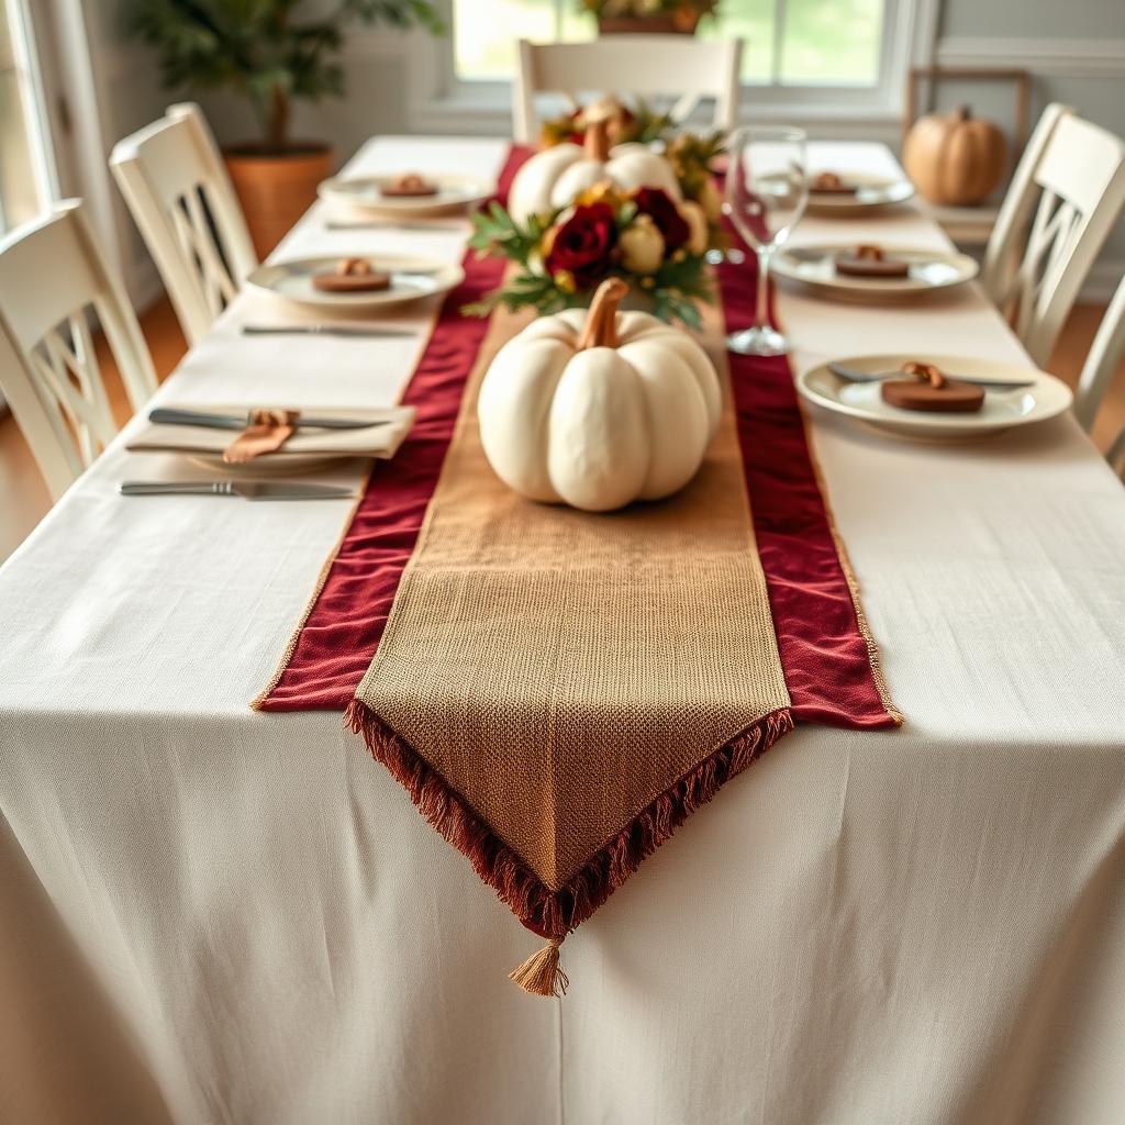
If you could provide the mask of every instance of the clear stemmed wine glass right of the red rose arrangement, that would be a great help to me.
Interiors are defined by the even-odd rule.
[[[735,228],[758,255],[754,326],[734,332],[727,346],[740,356],[784,356],[789,341],[770,325],[770,259],[789,237],[809,201],[804,129],[738,129],[730,138],[727,201]]]

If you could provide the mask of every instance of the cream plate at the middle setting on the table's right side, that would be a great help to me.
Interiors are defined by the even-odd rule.
[[[854,242],[784,246],[777,251],[770,268],[780,277],[803,281],[828,296],[865,300],[911,297],[937,289],[950,289],[971,281],[979,269],[968,254],[880,243],[880,249],[886,256],[907,263],[908,273],[904,278],[860,278],[837,273],[836,255],[850,253],[855,246]]]

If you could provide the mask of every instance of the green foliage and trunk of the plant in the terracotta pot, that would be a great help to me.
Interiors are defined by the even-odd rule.
[[[342,97],[340,53],[350,24],[440,34],[430,0],[336,0],[305,15],[307,0],[128,0],[129,28],[160,55],[170,88],[234,89],[250,99],[266,148],[291,150],[295,98]]]

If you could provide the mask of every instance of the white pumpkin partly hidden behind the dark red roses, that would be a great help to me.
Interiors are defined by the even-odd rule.
[[[680,182],[672,165],[642,144],[622,144],[610,151],[608,122],[586,127],[585,144],[559,144],[536,153],[515,173],[507,194],[507,209],[516,223],[546,215],[572,204],[595,183],[616,188],[663,188],[677,202]]]

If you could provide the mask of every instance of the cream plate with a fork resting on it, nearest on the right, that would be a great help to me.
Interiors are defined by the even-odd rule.
[[[1065,411],[1073,398],[1070,387],[1046,371],[999,360],[974,359],[970,356],[933,356],[898,353],[889,356],[855,356],[834,360],[864,375],[897,371],[903,363],[934,363],[950,378],[957,375],[978,379],[1011,382],[1034,380],[1034,386],[1020,390],[988,390],[984,405],[973,414],[927,414],[904,411],[883,402],[878,382],[847,382],[832,375],[826,363],[802,371],[798,390],[809,399],[837,414],[846,414],[868,425],[908,438],[929,441],[984,436],[1012,426],[1045,422]]]

